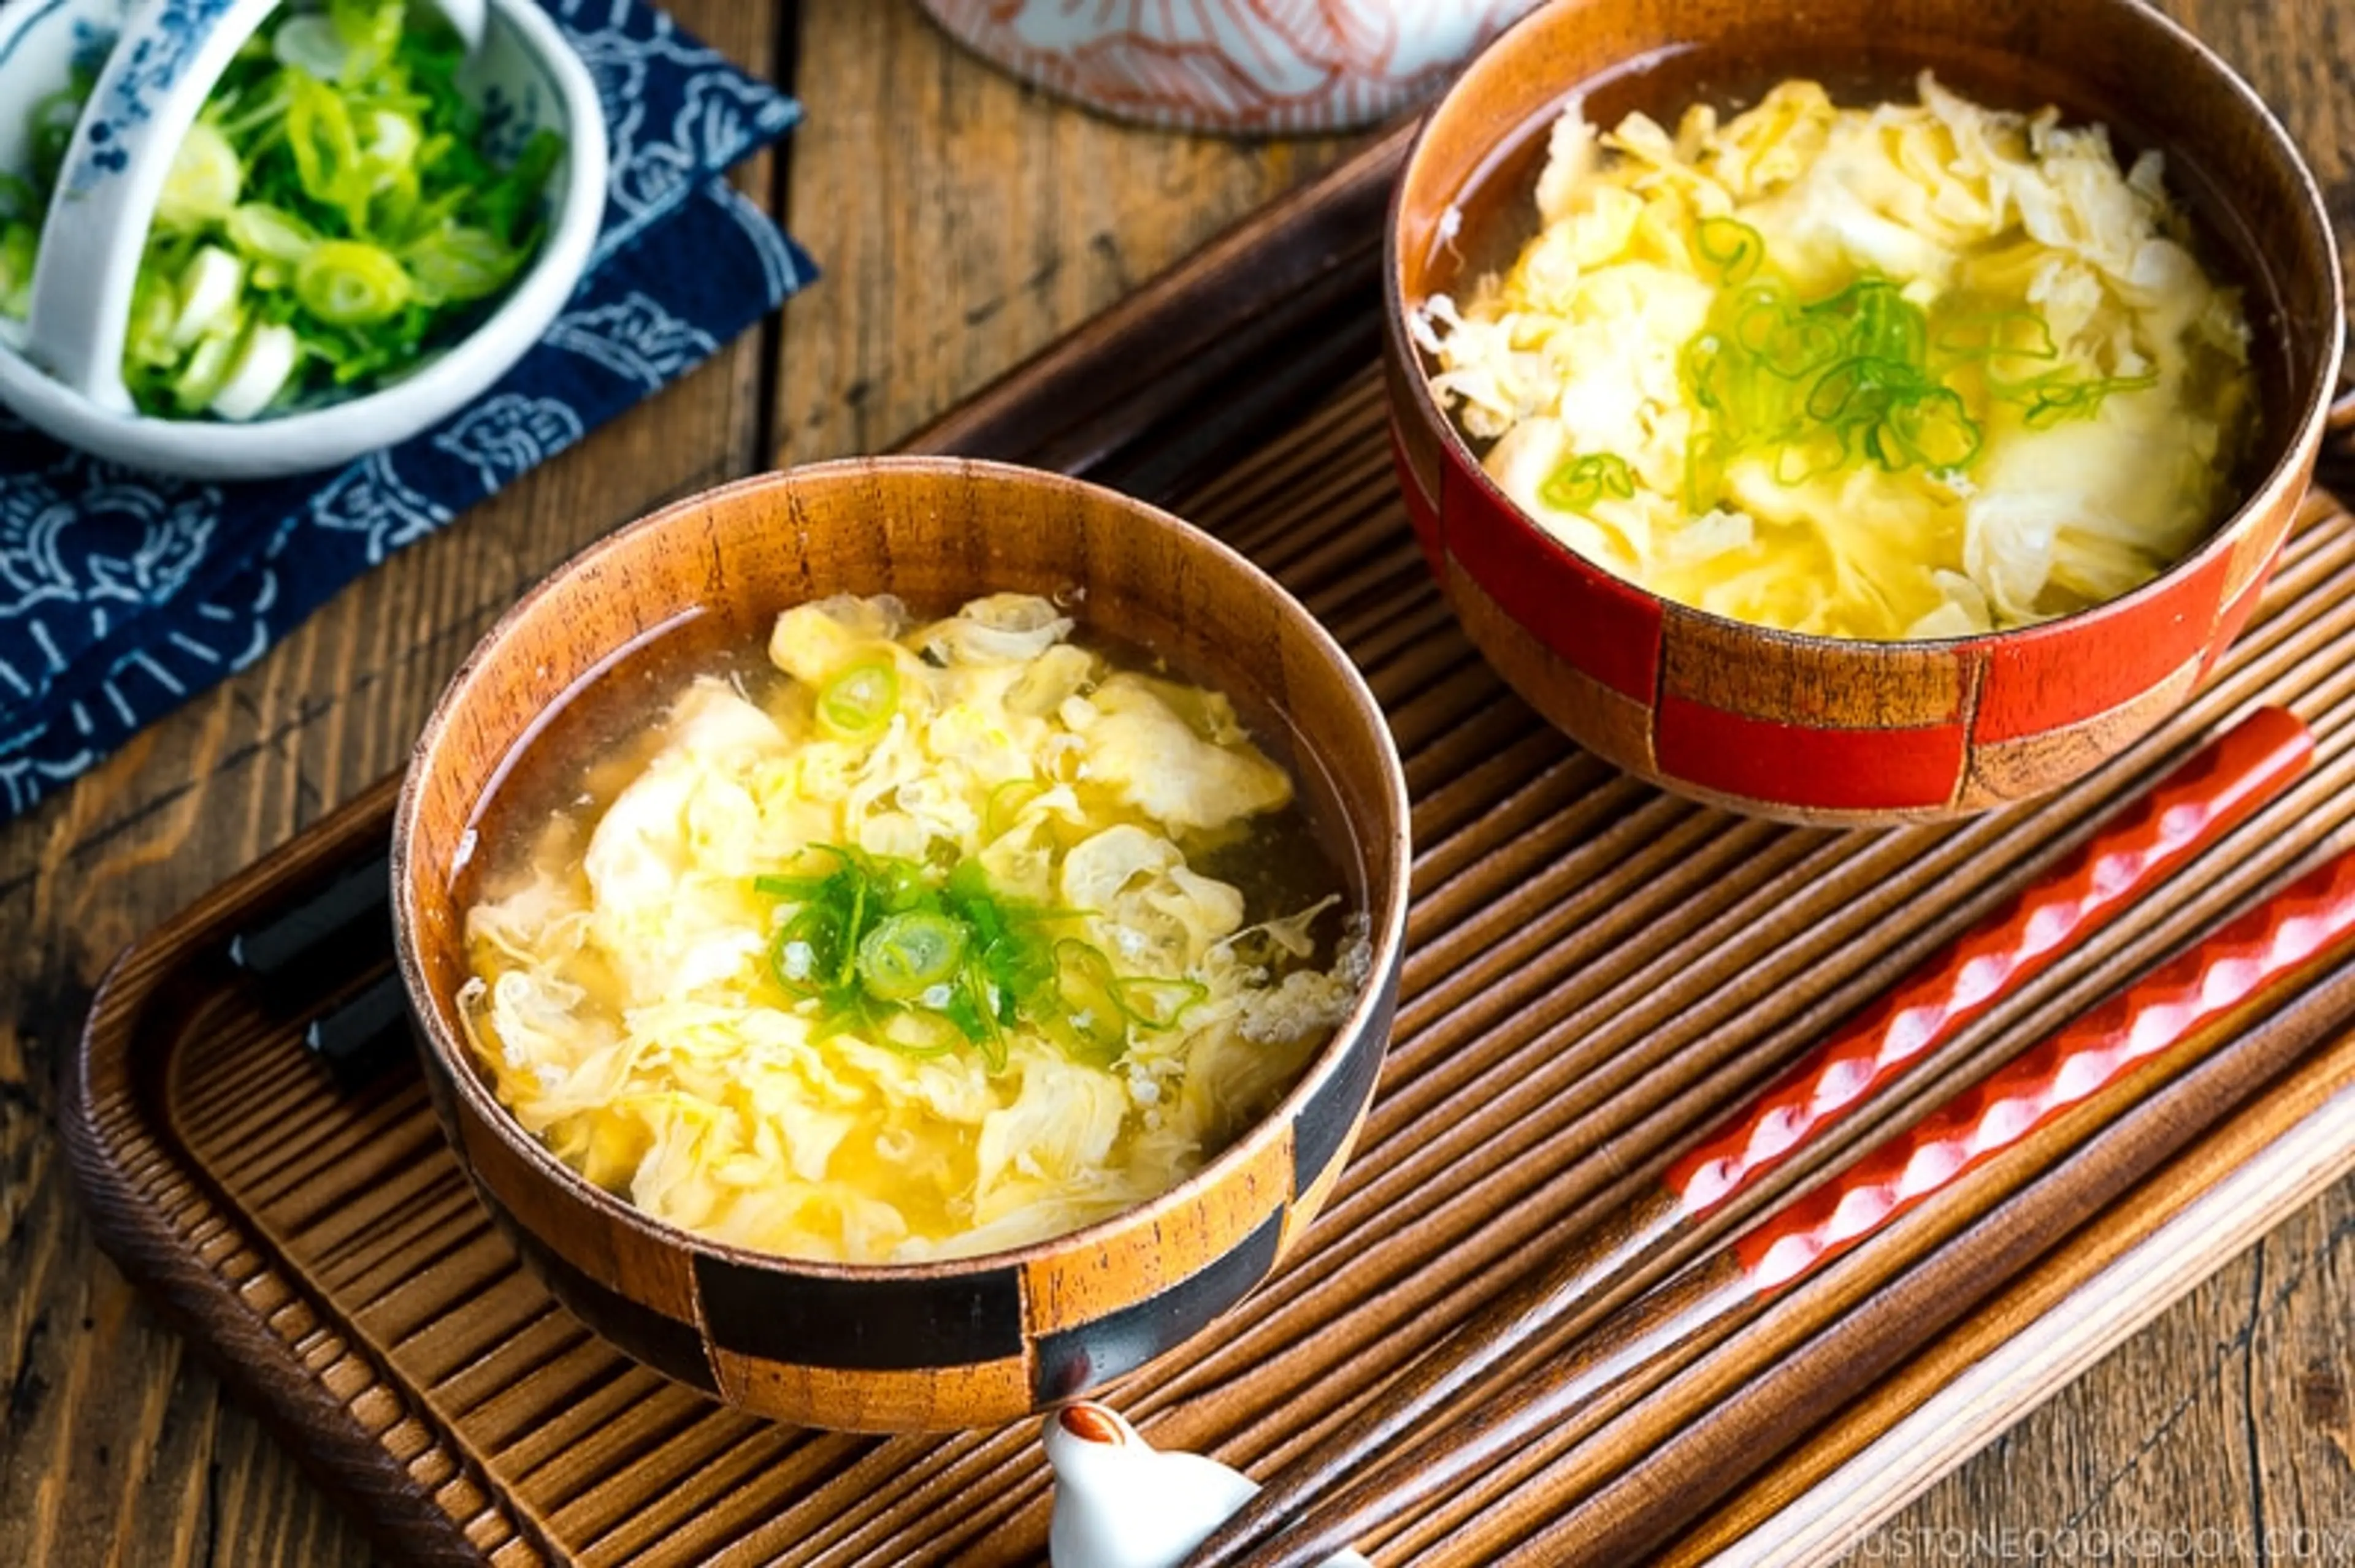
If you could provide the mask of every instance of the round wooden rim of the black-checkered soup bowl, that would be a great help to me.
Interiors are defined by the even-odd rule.
[[[1095,501],[1112,504],[1126,511],[1130,518],[1147,527],[1156,527],[1178,537],[1180,546],[1215,560],[1227,567],[1239,570],[1246,579],[1258,579],[1274,598],[1281,617],[1293,622],[1307,633],[1307,640],[1316,652],[1340,673],[1342,692],[1349,704],[1349,718],[1359,723],[1373,739],[1373,751],[1382,760],[1382,786],[1378,791],[1380,815],[1387,822],[1373,822],[1373,831],[1387,836],[1389,843],[1389,878],[1375,883],[1373,855],[1368,845],[1356,845],[1361,859],[1361,876],[1366,878],[1366,939],[1371,944],[1371,963],[1366,970],[1366,982],[1359,989],[1349,1015],[1333,1029],[1316,1057],[1309,1059],[1300,1078],[1283,1092],[1283,1097],[1269,1107],[1251,1130],[1236,1137],[1232,1144],[1220,1149],[1201,1170],[1189,1175],[1185,1182],[1170,1187],[1168,1191],[1147,1198],[1133,1208],[1123,1208],[1116,1215],[1107,1215],[1093,1224],[1076,1231],[1062,1231],[1057,1236],[1046,1236],[1020,1248],[1006,1248],[996,1253],[973,1253],[968,1257],[944,1257],[926,1262],[897,1262],[897,1264],[848,1264],[829,1262],[815,1257],[789,1257],[784,1253],[763,1253],[756,1248],[742,1248],[725,1241],[714,1241],[699,1236],[690,1229],[657,1220],[648,1215],[636,1203],[605,1191],[582,1172],[565,1165],[556,1154],[530,1137],[516,1121],[513,1111],[499,1104],[499,1097],[490,1092],[483,1083],[480,1071],[466,1055],[466,1043],[455,1038],[455,1031],[443,1022],[440,1012],[431,1005],[431,986],[426,984],[419,944],[412,916],[412,888],[417,876],[429,871],[419,866],[412,857],[414,822],[422,810],[422,779],[429,756],[436,751],[450,725],[462,711],[462,699],[466,697],[473,680],[478,680],[504,652],[506,640],[518,631],[525,617],[532,614],[544,600],[570,593],[579,586],[579,579],[603,563],[610,553],[624,549],[631,539],[650,532],[662,532],[676,527],[683,518],[697,516],[718,501],[737,501],[756,494],[789,494],[801,485],[836,485],[836,483],[918,483],[918,485],[970,485],[975,480],[984,483],[1010,483],[1057,490],[1074,497],[1086,497]],[[610,650],[608,650],[610,652]],[[542,702],[542,709],[546,704]],[[1295,725],[1298,732],[1298,725]],[[1295,735],[1302,749],[1307,749],[1307,737]],[[1319,758],[1319,765],[1324,760]],[[1352,836],[1354,841],[1354,836]],[[1378,1055],[1387,1052],[1389,1041],[1368,1041],[1373,1034],[1375,1017],[1385,1005],[1385,994],[1404,968],[1406,956],[1406,902],[1408,902],[1408,873],[1411,873],[1411,841],[1408,841],[1408,798],[1406,798],[1406,768],[1399,760],[1397,742],[1389,735],[1389,723],[1382,716],[1373,690],[1366,685],[1366,676],[1356,669],[1356,662],[1342,652],[1340,643],[1324,629],[1309,610],[1293,598],[1293,593],[1279,584],[1274,577],[1253,565],[1246,556],[1227,546],[1225,542],[1210,537],[1208,532],[1194,527],[1192,523],[1168,513],[1149,501],[1121,494],[1104,485],[1093,485],[1064,473],[1048,473],[1043,469],[1024,469],[1020,464],[970,459],[970,457],[843,457],[820,464],[801,464],[796,469],[751,473],[709,490],[697,490],[695,494],[681,497],[666,506],[659,506],[643,518],[636,518],[610,534],[591,542],[556,570],[532,584],[523,598],[518,598],[476,643],[466,662],[457,666],[447,685],[443,685],[440,697],[433,702],[433,711],[417,735],[410,749],[410,763],[400,782],[400,800],[393,808],[393,848],[391,848],[391,890],[393,890],[393,954],[400,965],[400,984],[410,1008],[410,1017],[417,1019],[419,1034],[433,1057],[450,1071],[457,1095],[464,1099],[466,1109],[483,1121],[509,1149],[525,1158],[537,1172],[570,1191],[577,1201],[589,1203],[603,1215],[645,1234],[659,1245],[676,1248],[690,1255],[704,1255],[730,1264],[742,1264],[761,1269],[768,1274],[827,1278],[827,1281],[940,1281],[958,1278],[968,1274],[996,1274],[1003,1269],[1020,1269],[1022,1264],[1039,1262],[1046,1257],[1057,1257],[1074,1250],[1093,1248],[1100,1238],[1119,1234],[1133,1227],[1145,1215],[1166,1215],[1173,1210],[1189,1208],[1203,1194],[1218,1189],[1239,1168],[1258,1158],[1265,1147],[1286,1132],[1291,1123],[1300,1116],[1302,1107],[1314,1097],[1326,1083],[1331,1083],[1349,1059],[1371,1048]],[[452,1130],[455,1132],[455,1130]],[[520,1224],[520,1220],[518,1220]]]

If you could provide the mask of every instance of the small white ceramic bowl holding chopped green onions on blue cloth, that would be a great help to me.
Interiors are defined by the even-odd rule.
[[[24,172],[28,160],[19,106],[31,106],[61,85],[92,40],[115,35],[127,19],[137,21],[130,0],[28,0],[0,7],[0,170]],[[219,66],[210,75],[191,71],[179,89],[198,89],[200,82],[200,92],[210,92],[217,71]],[[596,245],[608,174],[605,111],[598,106],[596,82],[532,0],[490,0],[490,26],[480,49],[466,61],[462,85],[478,99],[495,97],[509,106],[502,137],[511,134],[518,146],[539,127],[565,139],[565,155],[549,174],[549,231],[539,254],[464,339],[377,391],[236,424],[158,419],[108,407],[26,358],[28,332],[0,320],[0,403],[68,445],[134,469],[193,478],[273,478],[334,469],[455,414],[506,374],[572,297]],[[139,228],[144,233],[144,221]],[[54,297],[59,294],[47,290],[38,294],[35,311]]]

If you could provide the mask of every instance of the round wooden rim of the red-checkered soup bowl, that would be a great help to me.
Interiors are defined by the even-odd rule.
[[[2167,570],[2162,570],[2157,577],[2136,589],[2129,589],[2127,593],[2120,593],[2117,598],[2105,598],[2098,605],[2087,605],[2084,610],[2070,610],[2068,614],[2058,614],[2049,622],[2037,622],[2035,626],[2011,626],[2004,631],[1973,631],[1969,636],[1957,636],[1957,638],[1832,638],[1813,631],[1785,631],[1780,626],[1762,626],[1757,622],[1733,619],[1729,614],[1717,614],[1714,610],[1703,610],[1698,605],[1686,605],[1684,600],[1653,593],[1644,584],[1620,577],[1599,560],[1590,560],[1587,556],[1578,553],[1575,549],[1557,539],[1543,523],[1538,523],[1538,518],[1528,516],[1528,511],[1519,501],[1505,494],[1502,485],[1498,485],[1488,476],[1479,457],[1474,457],[1472,445],[1465,440],[1462,431],[1455,426],[1448,412],[1439,407],[1439,400],[1432,396],[1429,374],[1422,367],[1422,348],[1406,330],[1406,254],[1401,235],[1406,228],[1406,188],[1413,181],[1415,167],[1422,162],[1425,148],[1429,146],[1432,139],[1432,129],[1441,120],[1446,120],[1460,104],[1467,101],[1470,85],[1479,73],[1479,68],[1486,61],[1493,61],[1510,49],[1526,47],[1526,40],[1535,38],[1538,21],[1547,12],[1566,7],[1585,7],[1597,2],[1608,2],[1608,0],[1545,0],[1543,5],[1521,14],[1512,26],[1507,26],[1493,40],[1488,40],[1488,45],[1465,64],[1462,73],[1448,85],[1448,89],[1439,97],[1439,101],[1432,104],[1429,113],[1422,115],[1422,122],[1415,127],[1413,141],[1408,141],[1406,146],[1406,158],[1401,160],[1399,177],[1389,191],[1389,214],[1382,233],[1382,327],[1389,334],[1394,353],[1399,353],[1404,367],[1411,370],[1411,374],[1401,374],[1399,379],[1408,384],[1408,396],[1413,398],[1415,417],[1425,426],[1439,433],[1441,454],[1446,461],[1455,464],[1467,476],[1472,476],[1472,480],[1486,492],[1486,497],[1495,506],[1500,506],[1514,523],[1535,534],[1554,553],[1568,558],[1575,572],[1601,579],[1627,593],[1634,593],[1637,598],[1641,598],[1646,605],[1656,607],[1663,614],[1663,624],[1667,614],[1686,614],[1710,626],[1726,629],[1738,636],[1757,636],[1764,638],[1766,643],[1811,657],[1886,659],[1926,650],[1983,652],[1999,645],[2018,647],[2023,643],[2070,638],[2077,633],[2094,631],[2108,617],[2127,614],[2136,605],[2169,591],[2176,584],[2176,579],[2188,577],[2207,567],[2216,556],[2233,551],[2249,532],[2256,530],[2258,520],[2268,516],[2275,506],[2287,506],[2296,501],[2291,492],[2303,490],[2310,478],[2313,454],[2322,445],[2322,431],[2329,421],[2331,398],[2336,396],[2339,388],[2339,377],[2346,356],[2346,337],[2348,337],[2346,323],[2341,323],[2336,332],[2329,332],[2322,358],[2315,365],[2317,374],[2313,377],[2313,384],[2301,391],[2303,407],[2296,414],[2296,419],[2291,421],[2287,414],[2266,414],[2263,428],[2268,433],[2282,431],[2289,436],[2289,440],[2282,447],[2282,457],[2273,464],[2266,478],[2256,483],[2249,490],[2249,494],[2225,516],[2225,520],[2221,520],[2214,530],[2209,530],[2207,539],[2202,539],[2195,551],[2169,563]],[[2324,259],[2324,285],[2329,299],[2346,299],[2346,280],[2343,280],[2343,268],[2339,264],[2339,242],[2331,233],[2331,219],[2329,219],[2329,207],[2322,200],[2322,186],[2315,184],[2315,172],[2306,165],[2306,155],[2298,151],[2298,144],[2289,137],[2289,132],[2273,115],[2273,111],[2266,108],[2266,101],[2256,94],[2256,89],[2249,87],[2249,82],[2242,80],[2242,75],[2233,71],[2233,66],[2221,54],[2216,54],[2207,42],[2202,42],[2197,33],[2181,26],[2171,16],[2164,16],[2145,0],[2077,0],[2077,2],[2105,5],[2108,14],[2117,19],[2115,21],[2117,26],[2155,28],[2162,40],[2185,52],[2190,71],[2207,71],[2228,92],[2228,97],[2240,104],[2240,111],[2242,115],[2247,115],[2247,122],[2258,132],[2261,141],[2270,148],[2275,167],[2289,174],[2291,186],[2303,198],[2298,212],[2301,226],[2306,228],[2306,238],[2315,245],[2315,250]],[[1627,68],[1648,54],[1679,47],[1686,45],[1663,45],[1660,49],[1646,49],[1644,54],[1613,61],[1613,66],[1608,66],[1604,73],[1592,73],[1585,80],[1594,80],[1597,75],[1606,75],[1608,71]],[[1575,89],[1578,82],[1566,85],[1564,97],[1568,97]],[[1493,151],[1495,148],[1491,146],[1488,153]],[[2230,202],[2230,191],[2218,191],[2218,198]]]

